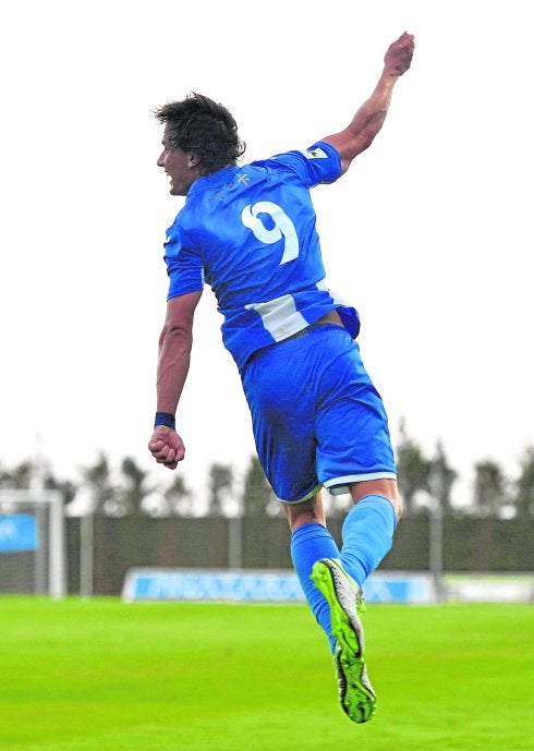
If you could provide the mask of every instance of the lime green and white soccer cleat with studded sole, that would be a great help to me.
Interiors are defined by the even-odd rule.
[[[339,701],[353,723],[366,723],[375,712],[376,695],[367,678],[363,628],[357,616],[365,609],[361,589],[336,558],[318,560],[311,579],[330,606]]]

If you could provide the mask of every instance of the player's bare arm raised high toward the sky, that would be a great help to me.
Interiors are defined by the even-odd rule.
[[[388,113],[393,86],[410,68],[413,49],[413,36],[404,32],[389,46],[376,88],[360,107],[350,124],[340,133],[321,138],[338,150],[341,173],[347,172],[354,157],[368,148],[380,131]]]

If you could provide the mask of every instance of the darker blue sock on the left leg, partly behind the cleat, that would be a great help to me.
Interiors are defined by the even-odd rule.
[[[328,530],[317,522],[303,524],[291,536],[291,558],[301,582],[307,603],[317,622],[330,641],[333,652],[335,641],[330,634],[330,608],[325,597],[310,579],[314,564],[320,558],[339,558],[338,546]]]

